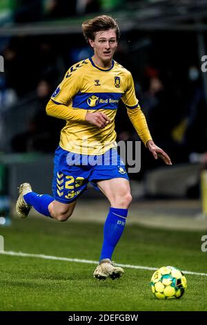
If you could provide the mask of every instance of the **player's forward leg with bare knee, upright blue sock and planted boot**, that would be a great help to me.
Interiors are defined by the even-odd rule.
[[[97,182],[97,185],[110,201],[111,207],[103,228],[101,256],[94,276],[98,279],[106,279],[108,276],[115,279],[121,277],[124,273],[122,268],[112,264],[111,258],[124,231],[128,207],[132,201],[130,185],[126,178],[101,180]]]

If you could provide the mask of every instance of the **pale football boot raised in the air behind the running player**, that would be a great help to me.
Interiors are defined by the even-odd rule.
[[[23,199],[23,196],[30,192],[32,192],[32,187],[29,183],[23,183],[19,186],[19,198],[17,199],[16,211],[20,218],[26,218],[32,209],[32,206],[28,205]]]

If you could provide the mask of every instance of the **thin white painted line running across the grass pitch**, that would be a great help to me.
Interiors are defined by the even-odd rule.
[[[88,259],[70,259],[68,257],[56,257],[44,254],[28,254],[22,252],[11,252],[11,251],[0,251],[2,255],[10,255],[10,256],[19,256],[19,257],[36,257],[38,259],[53,259],[55,261],[66,261],[66,262],[75,262],[75,263],[87,263],[87,264],[97,264],[98,261],[90,261]],[[116,266],[121,266],[122,268],[133,268],[139,270],[152,270],[155,271],[157,268],[150,268],[149,266],[132,266],[129,264],[119,264],[116,263]],[[199,273],[199,272],[191,272],[191,271],[182,271],[186,275],[202,275],[207,277],[207,273]]]

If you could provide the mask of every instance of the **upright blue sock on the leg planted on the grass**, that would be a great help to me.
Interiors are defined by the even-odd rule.
[[[122,232],[124,231],[127,214],[127,209],[110,207],[103,228],[103,246],[100,261],[102,259],[111,259],[112,253],[121,238]]]

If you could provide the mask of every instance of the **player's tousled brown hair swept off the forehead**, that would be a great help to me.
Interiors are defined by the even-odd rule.
[[[102,30],[114,29],[117,35],[117,41],[120,37],[120,30],[117,21],[110,16],[101,15],[93,19],[84,21],[82,24],[83,36],[87,43],[88,39],[95,40],[95,33],[101,32]]]

